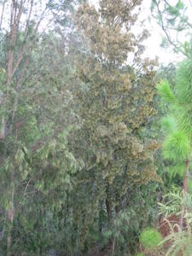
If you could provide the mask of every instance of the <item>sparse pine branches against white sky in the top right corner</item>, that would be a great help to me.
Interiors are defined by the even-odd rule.
[[[172,47],[176,53],[191,58],[192,5],[184,1],[152,0],[151,11],[165,34],[162,46]],[[187,41],[187,42],[186,42]]]

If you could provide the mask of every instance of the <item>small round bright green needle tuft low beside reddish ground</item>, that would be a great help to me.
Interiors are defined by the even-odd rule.
[[[160,232],[154,230],[153,228],[148,228],[143,230],[140,236],[140,242],[145,248],[154,248],[162,241],[162,236]]]

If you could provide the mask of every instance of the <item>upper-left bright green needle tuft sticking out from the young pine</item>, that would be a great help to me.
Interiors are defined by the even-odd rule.
[[[157,84],[157,91],[160,96],[168,103],[175,102],[175,96],[170,88],[169,82],[167,80],[163,80],[160,84]]]

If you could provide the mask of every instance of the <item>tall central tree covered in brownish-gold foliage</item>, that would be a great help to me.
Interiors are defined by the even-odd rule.
[[[83,119],[80,145],[85,153],[82,178],[94,183],[95,200],[90,204],[93,211],[99,204],[106,209],[108,225],[132,186],[160,180],[153,160],[158,143],[143,139],[155,113],[155,61],[142,58],[148,32],[136,36],[131,31],[137,21],[134,10],[141,3],[103,0],[98,11],[84,4],[76,14],[79,34],[86,42],[77,63],[84,83],[77,92]],[[84,212],[86,220],[93,214]]]

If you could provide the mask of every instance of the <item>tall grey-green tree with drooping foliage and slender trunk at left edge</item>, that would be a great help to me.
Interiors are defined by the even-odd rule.
[[[56,12],[59,3],[63,7],[60,13]],[[56,44],[46,36],[59,15],[68,13],[71,3],[1,3],[1,212],[5,212],[1,218],[8,255],[13,224],[28,189],[49,194],[61,183],[69,189],[69,173],[76,169],[67,148],[73,96],[61,71],[66,48],[61,37]]]

